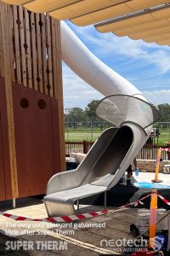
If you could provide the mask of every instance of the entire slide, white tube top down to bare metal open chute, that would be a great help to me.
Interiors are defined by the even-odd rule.
[[[139,90],[99,61],[64,22],[61,48],[63,61],[105,96],[97,113],[116,127],[101,134],[76,170],[51,177],[44,197],[50,217],[75,214],[75,201],[115,186],[160,118]]]

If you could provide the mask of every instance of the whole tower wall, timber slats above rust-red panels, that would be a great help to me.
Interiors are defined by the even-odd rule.
[[[59,20],[0,1],[0,85],[0,200],[43,194],[48,179],[65,171]]]

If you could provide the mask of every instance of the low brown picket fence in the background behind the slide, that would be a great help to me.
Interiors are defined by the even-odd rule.
[[[94,142],[65,142],[65,154],[69,155],[72,152],[80,152],[87,154],[88,150],[92,147]],[[137,159],[156,160],[158,148],[169,148],[169,144],[145,144],[137,154]],[[162,160],[170,160],[170,154],[166,151],[161,151]]]

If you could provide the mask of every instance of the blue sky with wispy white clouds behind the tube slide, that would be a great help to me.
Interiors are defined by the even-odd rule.
[[[170,104],[170,48],[144,43],[113,33],[100,33],[94,26],[75,26],[66,22],[77,37],[100,61],[134,84],[158,105]],[[102,99],[97,90],[80,79],[63,62],[64,108],[86,108],[94,99]]]

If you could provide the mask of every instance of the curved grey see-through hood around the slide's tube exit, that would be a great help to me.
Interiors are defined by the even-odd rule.
[[[159,111],[150,103],[127,95],[105,97],[99,102],[96,114],[117,126],[131,122],[144,129],[161,119]]]

